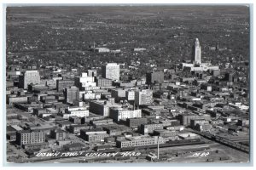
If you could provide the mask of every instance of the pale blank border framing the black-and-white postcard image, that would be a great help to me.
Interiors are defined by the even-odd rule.
[[[195,1],[191,1],[191,0],[175,0],[175,1],[168,1],[168,0],[159,0],[159,1],[157,1],[157,0],[94,0],[94,1],[82,1],[82,0],[72,0],[72,1],[70,1],[70,0],[62,0],[62,1],[54,1],[54,0],[44,0],[44,1],[38,1],[38,0],[3,0],[3,3],[7,3],[7,4],[11,4],[11,3],[25,3],[25,4],[28,4],[28,3],[79,3],[79,4],[81,4],[81,3],[179,3],[179,4],[181,4],[181,3],[189,3],[189,4],[192,4],[192,3],[218,3],[218,4],[226,4],[226,3],[251,3],[251,4],[253,4],[254,3],[254,1],[253,0],[222,0],[222,1],[218,1],[218,0],[215,0],[215,1],[209,1],[209,0],[195,0]],[[0,29],[1,29],[1,37],[2,37],[2,41],[0,42],[0,44],[1,44],[1,47],[3,47],[3,3],[2,3],[2,11],[1,11],[1,13],[0,13],[0,18],[1,18],[1,26],[0,26]],[[255,12],[253,13],[253,23],[256,23],[255,22]],[[251,23],[251,24],[253,24],[253,23]],[[253,26],[254,27],[254,26]],[[253,32],[254,32],[254,29],[255,28],[253,28]],[[251,37],[251,38],[253,38],[253,40],[254,40],[254,38],[255,38],[255,33],[253,34],[253,37]],[[254,41],[253,41],[253,48],[255,48],[255,43],[254,43]],[[1,52],[0,52],[0,54],[1,54],[1,57],[3,57],[3,48],[1,48]],[[253,56],[251,56],[251,58],[253,58]],[[256,59],[253,59],[253,65],[255,65],[255,60]],[[3,94],[3,82],[5,82],[5,80],[3,80],[3,67],[5,67],[5,64],[3,64],[3,62],[0,62],[0,65],[1,65],[1,69],[0,69],[0,77],[1,77],[1,88],[0,88],[0,93],[2,94],[1,96],[3,96],[3,95],[5,95],[5,94]],[[254,73],[254,69],[253,68],[251,68],[252,70],[251,70],[251,73],[250,74],[253,74],[253,80],[255,80],[255,77],[256,77],[256,74]],[[253,94],[251,94],[250,95],[251,97],[253,97],[253,96],[255,96],[255,90],[253,90]],[[0,104],[3,104],[3,98],[0,98]],[[254,105],[255,104],[255,99],[253,99],[253,104],[252,105]],[[3,111],[3,105],[1,105],[1,109],[0,109],[0,111]],[[1,113],[1,112],[0,112]],[[253,113],[252,113],[253,114]],[[255,122],[255,115],[253,116],[253,122]],[[2,120],[2,116],[1,116],[1,122],[0,122],[0,124],[1,124],[1,126],[3,125],[3,120]],[[3,150],[3,131],[0,131],[1,132],[1,137],[0,137],[0,145],[1,145],[1,150],[0,150],[0,160],[1,160],[1,163],[2,163],[2,166],[3,166],[3,152],[2,152],[2,150]],[[253,130],[253,136],[255,136],[255,130]],[[253,138],[253,141],[254,141],[254,138]],[[255,153],[255,146],[253,147],[253,153]],[[254,154],[253,154],[254,155]],[[253,160],[253,162],[254,162],[254,164],[255,164],[255,156],[253,156],[253,158],[254,158],[254,160]],[[203,166],[203,164],[201,164],[202,166]],[[206,166],[207,166],[207,164],[206,164]],[[20,167],[3,167],[3,169],[16,169],[16,168],[20,168]],[[22,167],[21,167],[22,168]],[[44,168],[50,168],[50,169],[52,169],[52,168],[61,168],[61,170],[66,170],[66,169],[70,169],[70,168],[72,168],[72,167],[23,167],[23,168],[26,168],[26,169],[28,169],[28,170],[30,170],[30,169],[35,169],[35,168],[37,168],[37,170],[40,170],[40,169],[44,169]],[[79,168],[79,169],[84,169],[84,168],[97,168],[97,167],[75,167],[75,168]],[[133,168],[136,168],[136,167],[99,167],[99,168],[104,168],[104,170],[106,169],[106,170],[112,170],[112,169],[129,169],[129,170],[131,170],[131,168],[133,169]],[[141,168],[141,167],[137,167],[137,168]],[[148,170],[149,169],[156,169],[157,167],[146,167]],[[172,168],[172,169],[188,169],[188,170],[190,170],[191,168],[196,168],[196,169],[209,169],[209,170],[212,170],[212,169],[216,169],[216,168],[221,168],[221,169],[223,169],[223,168],[225,168],[225,169],[232,169],[232,170],[236,170],[236,169],[253,169],[253,167],[160,167],[161,169],[170,169],[170,168]]]

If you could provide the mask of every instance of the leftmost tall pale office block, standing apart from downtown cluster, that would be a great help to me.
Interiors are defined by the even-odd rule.
[[[19,76],[19,88],[27,88],[28,84],[39,84],[40,75],[38,71],[25,71]]]

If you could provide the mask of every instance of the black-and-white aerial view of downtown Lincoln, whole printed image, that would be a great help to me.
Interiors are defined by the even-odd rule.
[[[250,14],[6,9],[9,163],[248,163]]]

